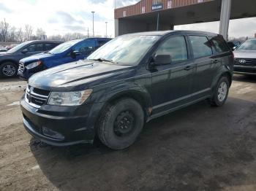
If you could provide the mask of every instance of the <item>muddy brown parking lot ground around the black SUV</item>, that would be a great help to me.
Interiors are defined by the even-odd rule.
[[[50,147],[23,128],[26,83],[0,82],[0,190],[256,190],[256,77],[145,125],[132,147]]]

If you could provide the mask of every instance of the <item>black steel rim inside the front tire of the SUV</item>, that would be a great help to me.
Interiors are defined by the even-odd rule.
[[[117,136],[126,136],[131,133],[135,124],[135,117],[132,112],[125,111],[118,114],[114,123],[114,133]]]

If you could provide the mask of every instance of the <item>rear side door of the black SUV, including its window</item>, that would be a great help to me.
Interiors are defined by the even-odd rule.
[[[198,99],[211,94],[211,82],[220,61],[213,58],[212,44],[207,36],[189,35],[189,44],[196,67],[192,93],[193,99]]]

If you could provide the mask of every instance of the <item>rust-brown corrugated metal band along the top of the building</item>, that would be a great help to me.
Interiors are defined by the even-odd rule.
[[[142,7],[145,7],[145,13],[151,12],[152,1],[153,0],[141,0],[137,4],[115,9],[115,18],[117,19],[121,17],[143,14]],[[176,8],[214,0],[162,0],[163,9],[167,9],[168,1],[171,1],[171,8]]]

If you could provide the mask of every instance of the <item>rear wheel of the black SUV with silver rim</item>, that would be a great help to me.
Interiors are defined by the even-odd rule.
[[[225,88],[222,88],[222,85],[225,85],[227,87],[227,89],[224,90],[223,93],[222,93],[222,90]],[[223,104],[225,104],[225,102],[227,100],[229,89],[230,89],[229,80],[225,76],[221,77],[217,83],[217,86],[214,89],[214,95],[210,100],[211,106],[223,106]],[[222,95],[220,95],[220,94],[222,94]]]

